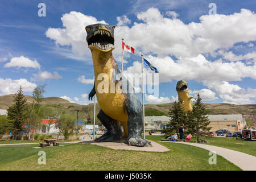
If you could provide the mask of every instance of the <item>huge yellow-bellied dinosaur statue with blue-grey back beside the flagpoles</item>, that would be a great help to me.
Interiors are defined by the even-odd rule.
[[[142,105],[139,97],[134,92],[133,86],[122,75],[117,63],[114,60],[112,51],[114,47],[114,28],[115,26],[108,24],[91,24],[85,27],[87,32],[86,41],[89,49],[92,51],[93,67],[94,67],[94,87],[89,94],[89,100],[97,95],[98,105],[101,110],[97,117],[102,125],[108,130],[107,133],[97,138],[97,142],[111,142],[120,140],[121,137],[127,138],[126,144],[133,146],[146,146],[151,144],[148,140],[142,138],[143,119]],[[98,76],[104,73],[108,78],[108,84],[102,87],[102,80],[98,80]],[[117,78],[116,75],[121,75]],[[126,82],[127,85],[117,86],[120,81]],[[118,90],[111,92],[111,84]],[[132,88],[133,92],[123,92],[123,87]],[[100,89],[105,92],[100,92]],[[121,91],[121,92],[120,92]],[[122,123],[124,135],[122,136]]]

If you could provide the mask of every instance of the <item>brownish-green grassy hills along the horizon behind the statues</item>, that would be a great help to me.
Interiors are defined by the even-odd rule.
[[[0,109],[7,109],[13,104],[14,94],[0,96]],[[27,102],[32,102],[31,96],[25,96]],[[44,106],[52,107],[54,109],[68,110],[75,113],[76,110],[80,110],[84,113],[86,118],[88,115],[93,120],[93,104],[89,105],[79,105],[71,103],[60,97],[46,97],[43,99]],[[168,110],[172,107],[172,103],[168,104],[146,104],[145,105],[145,115],[168,115]],[[250,105],[234,105],[234,104],[205,104],[208,114],[243,114],[247,115],[252,121],[255,122],[256,115],[256,104]],[[96,105],[96,113],[100,111],[98,104]],[[253,117],[251,117],[253,115]]]

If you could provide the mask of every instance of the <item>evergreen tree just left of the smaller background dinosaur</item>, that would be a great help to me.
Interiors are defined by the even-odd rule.
[[[163,133],[165,134],[164,137],[169,137],[174,133],[179,133],[180,125],[185,125],[187,120],[184,110],[181,107],[181,102],[175,101],[168,114],[170,117],[170,123],[167,125],[168,127],[163,130]]]

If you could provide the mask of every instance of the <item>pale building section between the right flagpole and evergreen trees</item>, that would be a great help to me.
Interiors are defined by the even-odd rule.
[[[145,130],[162,130],[166,129],[166,125],[170,122],[170,118],[162,116],[145,116]]]

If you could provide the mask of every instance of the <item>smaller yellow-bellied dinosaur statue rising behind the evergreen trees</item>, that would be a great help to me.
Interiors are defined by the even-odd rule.
[[[185,111],[185,113],[187,113],[188,111],[192,111],[193,107],[191,104],[191,98],[188,95],[188,84],[185,80],[180,80],[177,82],[176,85],[176,90],[177,90],[177,94],[179,97],[179,101],[182,102],[181,107],[183,107],[183,110]]]

